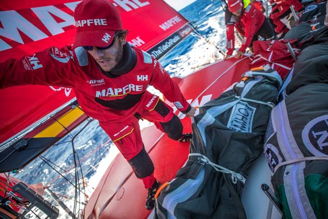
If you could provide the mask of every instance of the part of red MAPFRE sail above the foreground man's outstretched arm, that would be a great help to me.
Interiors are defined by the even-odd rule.
[[[73,14],[78,3],[76,0],[1,0],[1,24],[4,26],[4,37],[1,39],[4,42],[0,49],[0,62],[9,57],[20,58],[50,46],[62,48],[71,45],[76,35]],[[162,0],[120,0],[116,4],[123,28],[129,30],[127,41],[145,51],[188,23]],[[31,8],[39,11],[38,16]],[[57,19],[53,21],[53,17]],[[12,32],[13,29],[20,31]]]

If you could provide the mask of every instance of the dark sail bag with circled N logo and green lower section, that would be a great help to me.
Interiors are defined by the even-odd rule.
[[[328,84],[303,86],[272,110],[264,154],[283,219],[327,219]]]

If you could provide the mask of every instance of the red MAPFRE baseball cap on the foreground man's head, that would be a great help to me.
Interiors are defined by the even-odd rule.
[[[73,48],[78,46],[106,47],[122,30],[121,17],[109,0],[83,0],[74,11],[77,35]]]

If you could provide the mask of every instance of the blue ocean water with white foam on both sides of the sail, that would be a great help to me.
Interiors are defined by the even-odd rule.
[[[179,12],[193,23],[201,36],[197,33],[190,34],[161,58],[160,62],[170,75],[184,77],[204,65],[223,58],[216,46],[224,50],[226,31],[220,0],[197,0]],[[151,124],[144,122],[141,127],[147,125]],[[84,191],[79,168],[80,189],[86,196],[90,197],[111,160],[117,155],[118,150],[107,134],[99,127],[98,121],[89,119],[83,122],[68,136],[42,154],[44,158],[49,160],[50,163],[48,163],[62,173],[72,184],[75,184],[73,136],[75,136],[74,148],[81,162],[84,184],[86,185]],[[65,205],[73,211],[75,187],[42,159],[35,159],[19,173],[11,174],[11,176],[28,184],[42,183],[57,194]],[[45,198],[59,209],[61,219],[72,218],[51,199],[48,193],[46,193]],[[77,198],[78,210],[83,209],[84,198],[83,194]],[[38,211],[36,213],[40,218],[45,218]],[[37,218],[33,214],[28,217]]]

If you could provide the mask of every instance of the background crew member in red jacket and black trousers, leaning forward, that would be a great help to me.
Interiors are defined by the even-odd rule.
[[[265,40],[276,38],[267,18],[249,0],[228,0],[225,18],[227,26],[227,55],[225,59],[232,55],[235,48],[235,27],[244,37],[236,58],[242,57],[246,48],[252,47],[253,41],[257,40],[258,36]]]

